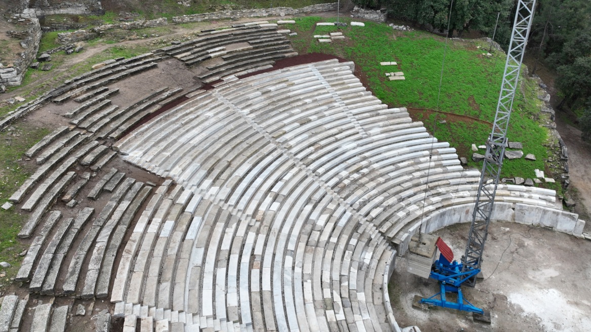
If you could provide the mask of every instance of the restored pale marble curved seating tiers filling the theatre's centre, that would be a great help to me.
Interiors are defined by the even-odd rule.
[[[113,145],[176,183],[158,188],[126,243],[116,316],[134,327],[141,318],[141,331],[395,326],[384,281],[405,250],[401,235],[473,202],[479,172],[406,109],[367,92],[353,66],[329,60],[227,81]],[[496,198],[555,201],[551,190],[511,185]]]

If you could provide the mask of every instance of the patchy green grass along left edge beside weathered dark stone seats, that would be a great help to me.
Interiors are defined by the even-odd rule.
[[[28,124],[12,125],[12,128],[14,130],[0,132],[0,204],[8,201],[33,171],[20,161],[22,154],[50,132]],[[7,285],[9,278],[14,277],[20,266],[22,257],[18,254],[27,246],[17,240],[17,234],[26,218],[15,207],[0,209],[0,262],[12,265],[8,269],[1,268],[7,275],[5,279],[0,279],[0,284]]]

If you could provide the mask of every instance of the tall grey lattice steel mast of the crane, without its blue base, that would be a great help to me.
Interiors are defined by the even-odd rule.
[[[495,122],[493,123],[491,136],[486,142],[486,153],[480,174],[476,204],[472,212],[472,224],[468,234],[468,242],[462,258],[462,272],[480,269],[486,237],[488,236],[488,225],[491,222],[493,203],[495,201],[496,188],[501,176],[501,168],[507,147],[507,130],[509,118],[517,83],[519,71],[525,54],[525,46],[534,17],[536,0],[519,0],[517,13],[511,32],[511,43],[507,52],[505,62],[505,73],[499,100],[496,105]],[[476,276],[465,282],[473,287],[476,284]]]

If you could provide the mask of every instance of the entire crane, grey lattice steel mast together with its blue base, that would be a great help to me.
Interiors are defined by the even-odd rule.
[[[509,116],[511,116],[525,45],[527,45],[527,38],[534,17],[535,2],[536,0],[518,0],[517,3],[501,93],[496,105],[495,122],[491,136],[486,142],[486,154],[482,165],[482,173],[480,174],[476,204],[472,213],[472,224],[470,225],[462,261],[453,261],[452,251],[443,240],[437,239],[436,245],[440,249],[441,255],[439,260],[433,263],[429,278],[439,281],[440,292],[430,298],[415,297],[415,302],[470,311],[479,315],[487,314],[484,310],[475,307],[463,298],[461,286],[474,287],[476,275],[480,272],[482,254],[488,235],[488,225],[491,222],[496,188],[499,184],[503,157],[508,142],[506,134],[509,126]],[[434,255],[435,251],[433,252]],[[457,294],[457,301],[447,301],[446,292]],[[437,298],[438,295],[439,298]],[[485,317],[478,318],[486,320]],[[490,316],[488,316],[488,321],[490,321]]]

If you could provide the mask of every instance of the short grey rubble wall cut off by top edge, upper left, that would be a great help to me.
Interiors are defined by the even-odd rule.
[[[31,0],[28,8],[34,8],[37,16],[54,14],[90,15],[105,12],[100,0]]]

